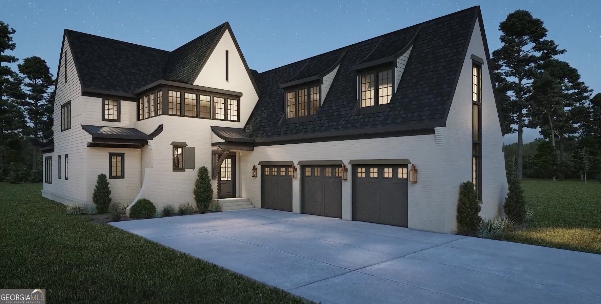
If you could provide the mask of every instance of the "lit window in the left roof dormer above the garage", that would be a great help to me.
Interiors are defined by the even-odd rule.
[[[286,118],[317,114],[320,105],[319,85],[286,92]]]

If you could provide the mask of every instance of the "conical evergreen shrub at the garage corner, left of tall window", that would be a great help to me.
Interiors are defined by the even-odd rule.
[[[473,234],[478,230],[481,220],[478,215],[480,209],[474,184],[471,181],[462,183],[457,204],[457,225],[461,233]]]

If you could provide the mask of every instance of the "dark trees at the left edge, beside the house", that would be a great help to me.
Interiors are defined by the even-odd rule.
[[[53,142],[56,80],[44,59],[7,54],[15,32],[0,21],[0,180],[41,183],[38,149]]]

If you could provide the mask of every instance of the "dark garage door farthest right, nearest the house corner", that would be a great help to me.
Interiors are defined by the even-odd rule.
[[[407,165],[353,165],[353,220],[407,226]]]

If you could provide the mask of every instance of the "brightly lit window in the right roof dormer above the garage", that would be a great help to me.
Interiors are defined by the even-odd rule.
[[[386,105],[392,97],[392,70],[363,74],[359,78],[361,107]]]

